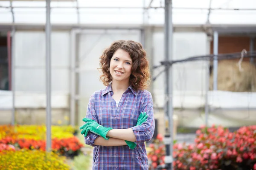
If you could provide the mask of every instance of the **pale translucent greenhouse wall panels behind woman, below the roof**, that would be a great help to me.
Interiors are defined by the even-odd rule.
[[[173,59],[184,59],[210,53],[210,41],[204,31],[198,28],[179,28],[173,34]],[[130,39],[143,42],[138,29],[84,29],[76,37],[76,49],[71,51],[70,29],[52,31],[52,122],[68,124],[70,117],[70,60],[72,52],[77,57],[76,119],[85,116],[90,95],[104,88],[99,81],[99,57],[114,40]],[[151,67],[164,60],[163,27],[146,27],[143,42]],[[45,123],[45,34],[44,31],[17,30],[15,34],[15,107],[16,120],[20,124]],[[151,69],[152,78],[163,69]],[[179,116],[180,126],[204,124],[204,105],[207,81],[205,61],[183,62],[173,65],[173,107]],[[164,73],[151,82],[150,91],[154,97],[156,117],[163,117]],[[229,94],[226,94],[229,93]],[[1,124],[11,122],[12,92],[0,91]],[[243,99],[241,102],[240,99]],[[241,122],[251,124],[256,115],[255,93],[209,91],[211,107],[209,121],[236,126]],[[248,104],[249,103],[249,104]],[[241,111],[226,111],[237,107]],[[248,108],[248,109],[246,109]],[[250,111],[249,111],[250,110]],[[249,111],[249,112],[248,112]],[[245,112],[250,119],[238,121]],[[216,115],[217,114],[217,115]],[[227,118],[223,118],[226,114]],[[230,119],[230,114],[233,119]],[[8,116],[6,116],[8,115]],[[213,117],[212,117],[213,116]],[[81,123],[81,122],[78,122]]]

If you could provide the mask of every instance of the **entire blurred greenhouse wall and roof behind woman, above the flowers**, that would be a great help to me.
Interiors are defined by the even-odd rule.
[[[148,54],[155,133],[164,135],[166,78],[159,74],[164,67],[157,67],[165,60],[164,4],[51,0],[52,125],[83,124],[90,95],[105,88],[97,70],[102,51],[114,40],[135,40]],[[44,0],[0,0],[2,125],[46,123],[45,23]],[[236,54],[218,62],[211,58],[172,65],[175,139],[193,142],[195,130],[206,122],[230,129],[255,125],[256,1],[172,0],[172,24],[173,60]]]

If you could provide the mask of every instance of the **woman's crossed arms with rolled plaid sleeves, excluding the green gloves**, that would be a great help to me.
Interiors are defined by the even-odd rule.
[[[144,104],[142,106],[142,112],[146,112],[148,119],[142,125],[134,126],[128,129],[112,129],[109,130],[107,135],[110,137],[108,140],[105,140],[103,137],[89,132],[87,136],[84,137],[85,144],[96,146],[123,146],[127,145],[126,141],[140,142],[149,141],[154,134],[154,116],[153,116],[153,102],[151,94],[149,93],[144,97]],[[97,115],[94,108],[94,97],[90,98],[90,102],[87,108],[87,118],[94,119],[96,122]]]

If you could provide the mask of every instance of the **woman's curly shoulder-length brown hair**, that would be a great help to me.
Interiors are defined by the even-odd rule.
[[[100,57],[100,68],[102,75],[100,80],[104,85],[109,85],[112,81],[112,77],[109,71],[110,61],[116,50],[122,49],[129,53],[132,59],[132,68],[130,76],[130,84],[134,90],[144,90],[149,85],[150,69],[149,62],[146,58],[146,51],[140,42],[132,40],[118,40],[114,41],[110,47],[103,51]]]

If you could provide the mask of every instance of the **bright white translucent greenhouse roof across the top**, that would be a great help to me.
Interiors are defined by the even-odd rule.
[[[52,24],[164,24],[164,0],[52,0]],[[256,0],[172,0],[173,24],[256,25]],[[12,17],[13,12],[13,17]],[[44,24],[45,0],[0,0],[0,24]]]

